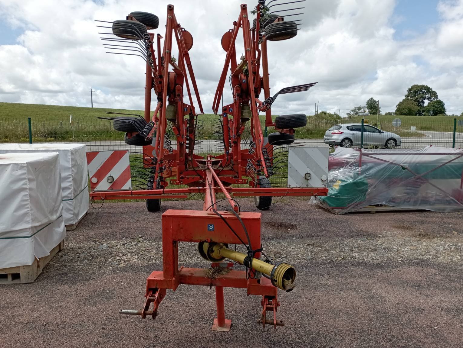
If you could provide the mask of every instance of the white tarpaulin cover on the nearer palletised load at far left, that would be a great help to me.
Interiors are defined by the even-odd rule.
[[[30,265],[65,237],[59,154],[0,154],[0,268]]]

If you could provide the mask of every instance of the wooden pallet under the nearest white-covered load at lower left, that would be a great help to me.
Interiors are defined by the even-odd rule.
[[[56,245],[50,255],[35,258],[31,265],[16,266],[0,269],[0,284],[16,284],[16,283],[32,283],[42,273],[42,270],[47,263],[56,255],[56,253],[64,248],[64,240]]]

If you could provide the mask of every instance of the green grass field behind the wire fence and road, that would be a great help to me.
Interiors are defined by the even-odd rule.
[[[82,108],[75,106],[56,106],[39,104],[0,103],[0,142],[27,142],[27,117],[31,117],[33,141],[96,141],[122,140],[123,134],[113,130],[112,122],[100,120],[97,116],[110,116],[106,111],[143,115],[142,110],[118,110],[102,108]],[[69,123],[72,115],[72,124]],[[219,116],[206,114],[199,116],[202,122],[202,138],[214,139],[213,121]],[[274,116],[275,117],[275,116]],[[360,122],[361,117],[332,121],[322,116],[307,116],[307,126],[298,128],[299,138],[320,139],[326,129],[336,123]],[[401,136],[422,136],[416,130],[452,132],[453,117],[447,116],[366,116],[369,124],[377,125],[385,131]],[[263,121],[263,116],[260,117]],[[394,127],[392,120],[400,118],[400,127]],[[271,132],[272,129],[269,129]],[[457,131],[461,131],[461,127]]]

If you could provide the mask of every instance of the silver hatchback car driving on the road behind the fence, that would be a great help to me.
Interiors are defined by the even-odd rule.
[[[323,137],[325,144],[336,145],[340,147],[353,147],[362,145],[362,124],[361,123],[344,123],[335,124],[325,132]],[[402,140],[400,136],[384,132],[379,128],[363,125],[363,146],[379,146],[394,148],[400,146]]]

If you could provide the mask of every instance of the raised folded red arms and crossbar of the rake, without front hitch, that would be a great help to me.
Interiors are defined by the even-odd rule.
[[[153,49],[154,34],[150,34],[150,50],[154,61],[154,68],[149,64],[146,67],[146,90],[145,90],[145,110],[144,116],[146,121],[150,121],[150,106],[151,106],[151,88],[154,88],[158,103],[156,110],[153,113],[151,120],[154,122],[153,131],[148,138],[155,138],[155,146],[145,146],[144,165],[146,167],[154,167],[154,189],[138,190],[138,191],[120,191],[114,192],[92,192],[90,197],[92,200],[99,199],[145,199],[145,198],[186,198],[188,193],[204,192],[202,186],[208,182],[206,177],[206,169],[209,169],[219,187],[223,189],[230,184],[249,184],[249,189],[226,187],[224,190],[227,198],[232,196],[256,196],[256,195],[288,195],[288,196],[307,196],[307,195],[326,195],[326,188],[317,189],[259,189],[259,177],[269,177],[269,168],[267,168],[264,160],[263,149],[266,153],[272,153],[273,147],[269,144],[264,144],[263,132],[258,116],[258,109],[265,111],[266,126],[275,126],[271,118],[271,111],[262,106],[262,102],[258,99],[258,95],[262,89],[264,97],[270,96],[269,88],[269,69],[267,59],[267,41],[265,37],[262,40],[259,38],[259,19],[261,5],[257,5],[257,28],[250,28],[248,8],[246,4],[240,6],[238,20],[233,23],[233,28],[225,33],[222,39],[222,45],[226,48],[227,55],[225,58],[224,68],[222,70],[219,84],[214,96],[213,111],[217,114],[219,109],[222,90],[227,79],[227,71],[230,68],[232,72],[232,85],[234,86],[233,98],[234,102],[225,105],[222,109],[221,119],[224,124],[223,136],[224,139],[231,139],[232,146],[229,147],[229,142],[224,141],[225,151],[219,156],[214,156],[211,163],[206,163],[206,158],[194,154],[194,122],[198,114],[193,106],[193,98],[190,92],[188,74],[191,79],[196,99],[202,113],[202,105],[198,88],[194,78],[191,60],[188,54],[188,47],[184,37],[184,28],[178,24],[174,13],[174,6],[169,5],[167,10],[166,32],[164,36],[163,53],[161,55],[161,35],[157,35],[157,61],[155,50]],[[278,18],[277,20],[281,20]],[[244,39],[244,60],[238,64],[236,58],[235,42],[238,33],[242,30]],[[178,64],[171,60],[172,42],[174,40],[179,48]],[[191,37],[188,33],[187,37]],[[227,41],[228,40],[228,41]],[[260,66],[262,61],[263,75],[260,75]],[[248,69],[248,74],[243,71]],[[169,67],[172,67],[172,72],[169,72]],[[187,71],[188,70],[188,71]],[[184,103],[183,86],[185,85],[188,100],[190,104]],[[167,106],[171,105],[176,110],[176,121],[173,125],[175,134],[176,149],[171,153],[164,149],[164,135],[166,134],[166,118]],[[242,107],[247,105],[251,111],[251,136],[255,143],[254,151],[250,152],[247,148],[241,148],[241,137],[244,131],[244,122],[241,120]],[[257,105],[259,105],[257,107]],[[188,115],[188,120],[185,116]],[[232,116],[229,119],[228,116]],[[187,134],[187,123],[189,125]],[[230,132],[228,128],[230,126]],[[294,129],[281,129],[281,132],[294,133]],[[154,154],[154,159],[153,159]],[[250,168],[252,163],[253,168]],[[180,191],[179,189],[168,188],[169,184],[187,185],[188,189]],[[160,191],[161,189],[162,191]],[[182,194],[182,195],[180,195]]]

